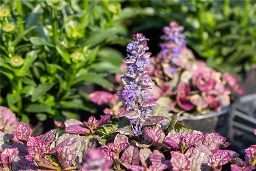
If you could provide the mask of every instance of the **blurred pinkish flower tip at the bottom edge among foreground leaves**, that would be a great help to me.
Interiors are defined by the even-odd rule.
[[[106,171],[111,165],[111,161],[106,160],[98,149],[91,149],[83,156],[82,171],[98,170]]]

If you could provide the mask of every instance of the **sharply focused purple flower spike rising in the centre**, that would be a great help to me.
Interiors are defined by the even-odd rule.
[[[133,42],[127,45],[127,52],[130,54],[124,59],[126,64],[126,73],[121,77],[126,82],[123,90],[118,93],[119,100],[123,103],[126,111],[133,111],[138,114],[138,119],[132,118],[131,124],[134,124],[134,133],[141,134],[142,123],[145,119],[152,116],[153,106],[156,105],[152,94],[146,92],[150,89],[153,82],[148,76],[150,70],[151,53],[148,50],[147,40],[141,33],[133,36]]]

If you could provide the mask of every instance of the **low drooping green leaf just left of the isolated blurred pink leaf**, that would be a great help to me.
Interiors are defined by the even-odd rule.
[[[72,101],[61,101],[60,102],[61,108],[66,109],[81,109],[85,111],[89,111],[94,113],[96,110],[91,106],[86,106],[81,100],[75,99]]]

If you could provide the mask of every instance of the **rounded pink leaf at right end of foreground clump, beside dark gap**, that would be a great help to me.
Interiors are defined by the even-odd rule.
[[[232,156],[225,150],[218,150],[210,157],[213,168],[221,168],[221,166],[228,163],[231,158]]]

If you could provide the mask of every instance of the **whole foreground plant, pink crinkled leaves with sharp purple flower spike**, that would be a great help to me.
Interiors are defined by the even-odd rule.
[[[117,115],[55,121],[56,130],[31,137],[29,125],[17,123],[15,114],[1,106],[1,169],[221,170],[231,163],[233,171],[253,170],[255,145],[245,150],[243,161],[238,153],[225,150],[229,145],[225,137],[193,131],[177,123],[179,114],[172,120],[157,116],[152,108],[157,104],[145,91],[153,84],[148,76],[147,40],[138,33],[127,45],[127,69],[122,77],[126,84],[118,93],[123,108]],[[106,99],[98,96],[97,103]]]

